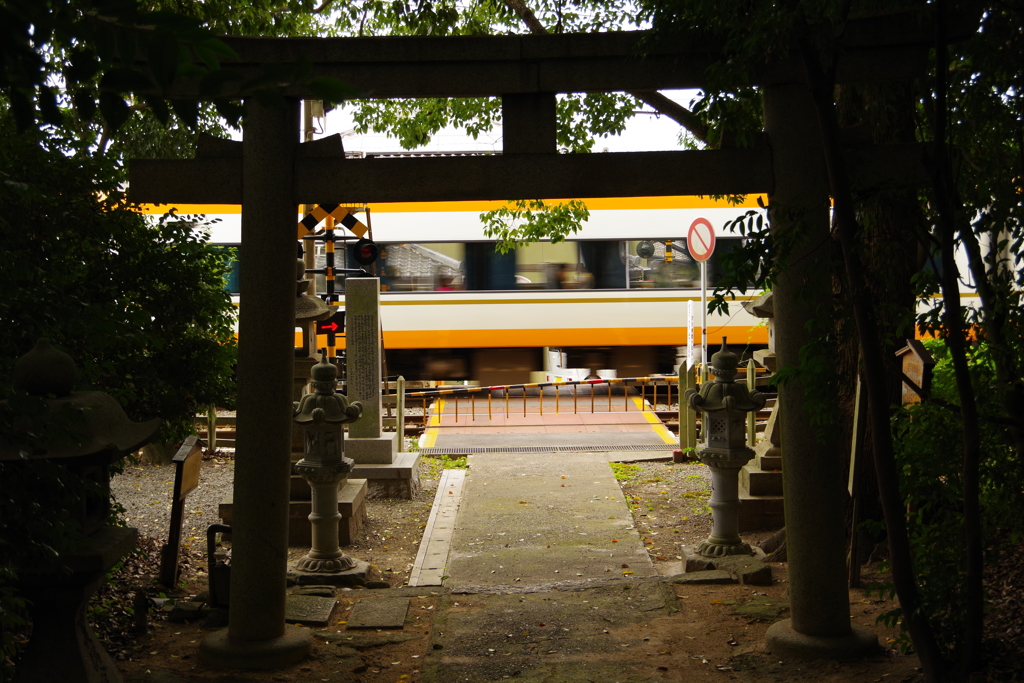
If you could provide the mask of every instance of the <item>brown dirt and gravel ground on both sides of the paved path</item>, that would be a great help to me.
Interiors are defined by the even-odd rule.
[[[375,565],[381,578],[392,588],[340,592],[339,605],[331,624],[326,628],[312,629],[312,656],[286,670],[223,672],[209,669],[198,660],[198,647],[210,632],[211,625],[204,622],[173,623],[156,607],[148,610],[144,632],[138,632],[135,626],[137,621],[130,613],[131,600],[137,589],[145,590],[158,601],[166,597],[168,603],[186,601],[206,589],[205,558],[199,551],[202,544],[194,543],[186,548],[182,584],[169,590],[154,584],[159,544],[146,540],[142,544],[142,552],[126,563],[90,608],[91,621],[104,638],[125,679],[163,683],[421,680],[426,675],[424,665],[428,661],[428,650],[438,647],[436,637],[431,639],[432,629],[436,628],[434,615],[438,607],[443,607],[450,615],[458,614],[461,610],[473,609],[474,605],[478,608],[479,603],[487,599],[484,596],[450,595],[436,589],[403,587],[416,557],[440,472],[445,467],[461,464],[432,458],[424,458],[423,461],[423,486],[416,498],[411,501],[371,501],[368,505],[369,524],[364,537],[345,548],[352,556]],[[216,472],[217,476],[222,476],[231,465],[229,456],[222,455],[211,459],[208,464],[210,471]],[[711,514],[707,506],[710,495],[707,468],[699,464],[647,462],[616,466],[615,470],[652,561],[664,574],[678,573],[681,547],[698,542],[711,528]],[[145,470],[136,473],[139,477],[146,474]],[[138,481],[132,486],[135,490],[144,490],[144,485]],[[138,515],[144,513],[134,514],[134,521],[139,522]],[[770,532],[771,529],[765,529],[746,533],[744,538],[757,544]],[[296,548],[293,554],[298,556],[306,550]],[[614,628],[604,630],[609,637],[623,641],[621,649],[605,651],[596,647],[593,652],[581,654],[582,661],[586,666],[603,661],[613,671],[622,671],[624,681],[721,678],[750,682],[902,682],[919,678],[915,657],[898,654],[888,647],[880,656],[843,665],[835,661],[784,661],[763,652],[764,631],[787,614],[784,563],[774,564],[773,571],[775,581],[766,587],[672,585],[677,604],[671,608],[678,609],[677,612],[669,617],[659,612],[662,616],[647,618],[622,633]],[[865,567],[865,584],[885,579],[884,574],[877,573],[877,567]],[[523,597],[523,608],[530,601],[548,600],[545,595]],[[387,597],[408,597],[411,600],[402,629],[369,632],[347,629],[346,617],[358,601]],[[860,589],[851,591],[850,602],[852,620],[876,630],[880,641],[889,645],[896,633],[876,624],[876,617],[891,609],[893,604]],[[542,604],[538,608],[544,607]],[[551,625],[556,622],[557,615],[552,614]],[[504,654],[511,657],[511,661],[516,656],[547,655],[547,650],[538,649],[545,647],[543,643],[549,639],[544,635],[546,626],[544,622],[538,622],[538,625],[521,634],[508,634],[509,652],[487,648],[481,656]],[[534,633],[530,634],[530,631]],[[552,637],[557,640],[557,635]],[[522,642],[513,645],[513,641]],[[568,655],[563,653],[562,656]],[[615,676],[617,680],[617,674]],[[436,671],[430,674],[430,678],[444,680]]]

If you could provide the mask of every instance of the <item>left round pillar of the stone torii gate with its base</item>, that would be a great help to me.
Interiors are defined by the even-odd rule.
[[[285,625],[299,101],[245,106],[230,611],[227,629],[207,636],[200,655],[220,667],[273,669],[310,648],[307,632]]]

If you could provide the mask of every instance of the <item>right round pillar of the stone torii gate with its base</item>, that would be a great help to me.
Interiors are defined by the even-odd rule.
[[[828,186],[807,87],[769,86],[762,101],[775,178],[771,229],[776,243],[790,250],[774,287],[775,348],[779,366],[787,367],[798,365],[801,349],[827,332],[812,333],[807,326],[828,321],[833,306]],[[792,618],[773,625],[766,641],[786,656],[858,655],[869,649],[873,636],[854,633],[850,625],[836,435],[826,430],[822,440],[802,378],[781,386],[778,401]]]

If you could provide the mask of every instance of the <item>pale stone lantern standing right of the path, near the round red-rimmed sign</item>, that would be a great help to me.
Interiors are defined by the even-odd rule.
[[[746,445],[746,414],[764,407],[765,397],[733,380],[739,358],[725,346],[711,356],[715,381],[685,394],[690,409],[703,414],[697,458],[711,468],[712,532],[697,547],[706,557],[750,555],[739,538],[739,470],[753,457]]]

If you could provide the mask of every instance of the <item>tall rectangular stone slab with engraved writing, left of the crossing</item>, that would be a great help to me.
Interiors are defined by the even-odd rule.
[[[396,434],[381,430],[381,286],[379,278],[345,280],[345,377],[348,399],[362,417],[348,426],[346,455],[356,463],[390,464]]]

